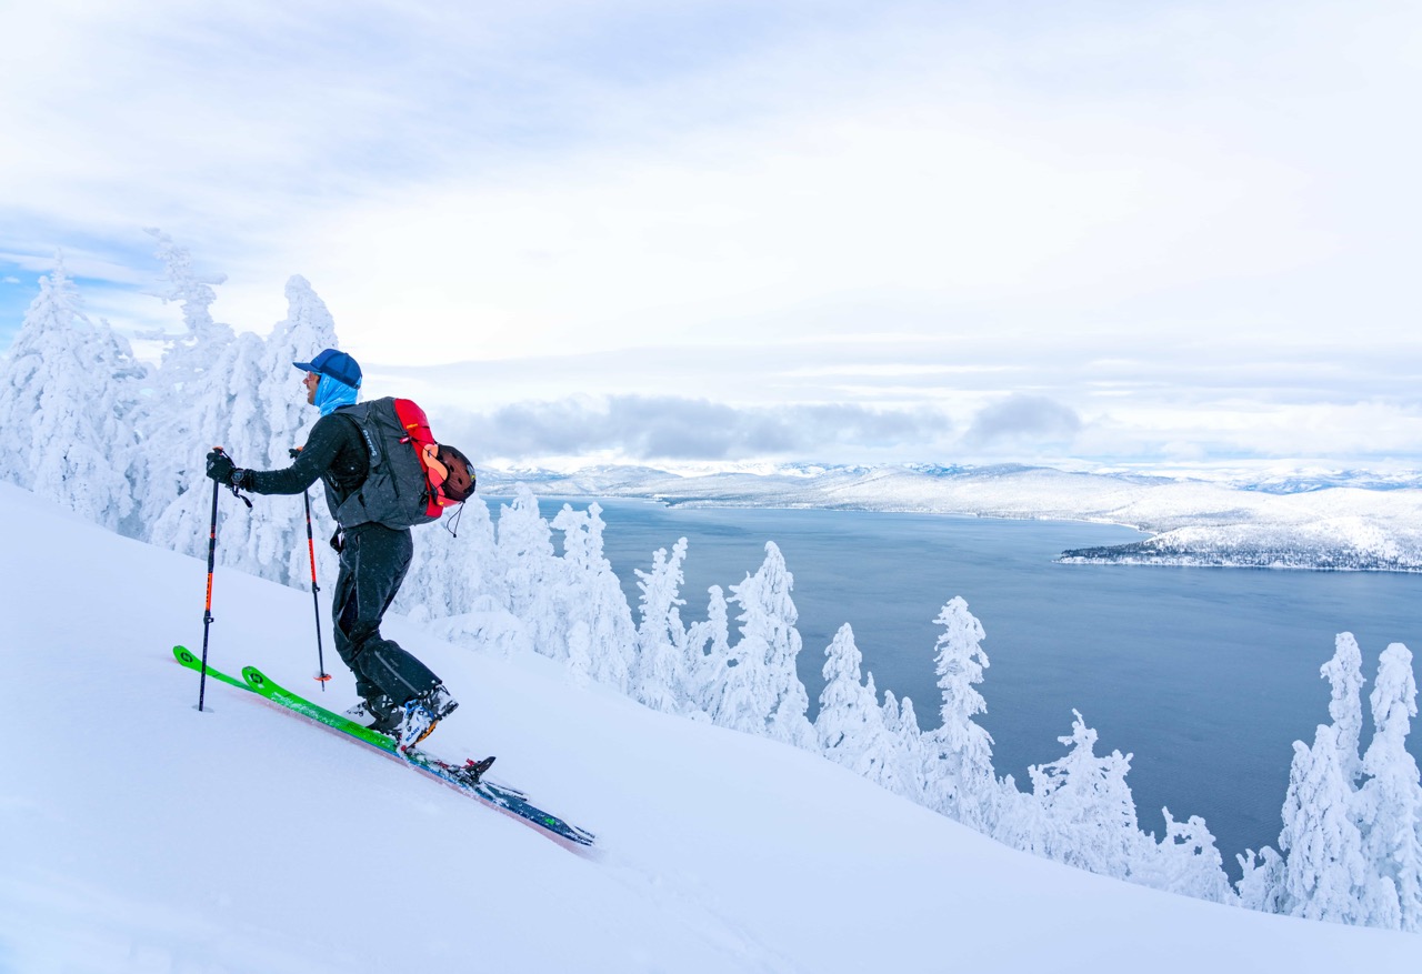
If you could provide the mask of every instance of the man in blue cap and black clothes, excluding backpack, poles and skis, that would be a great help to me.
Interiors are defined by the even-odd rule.
[[[306,401],[321,412],[306,446],[280,471],[243,469],[226,454],[212,451],[208,476],[252,493],[301,493],[320,479],[334,513],[370,472],[360,427],[337,412],[356,404],[361,370],[354,358],[334,348],[309,363],[292,364],[306,373],[301,380]],[[410,529],[397,530],[378,522],[338,525],[331,547],[341,557],[331,606],[336,650],[356,674],[356,691],[361,695],[347,715],[394,737],[404,749],[428,737],[458,707],[439,677],[380,634],[381,619],[410,569],[414,553]]]

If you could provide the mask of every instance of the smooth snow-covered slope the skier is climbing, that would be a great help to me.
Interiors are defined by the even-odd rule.
[[[205,564],[0,485],[0,971],[1411,971],[1415,936],[1012,852],[803,751],[542,657],[390,634],[462,701],[431,739],[600,860],[171,658]],[[417,542],[418,543],[418,542]],[[219,570],[210,663],[319,694],[311,603]],[[324,700],[353,698],[337,671]],[[50,701],[63,701],[51,710]],[[13,702],[13,705],[14,705]],[[36,705],[40,704],[40,705]]]

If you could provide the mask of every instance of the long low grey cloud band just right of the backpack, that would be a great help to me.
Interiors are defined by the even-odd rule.
[[[948,421],[929,410],[856,405],[738,408],[708,400],[614,395],[519,402],[491,414],[448,417],[451,439],[483,456],[611,455],[620,459],[735,461],[815,458],[941,441]],[[445,421],[442,421],[445,422]]]

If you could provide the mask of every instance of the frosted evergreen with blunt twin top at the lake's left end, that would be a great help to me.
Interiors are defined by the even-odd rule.
[[[574,510],[563,505],[553,528],[563,532],[566,582],[560,616],[569,633],[569,663],[576,673],[629,692],[637,634],[621,583],[603,555],[602,508],[590,503],[586,510]]]

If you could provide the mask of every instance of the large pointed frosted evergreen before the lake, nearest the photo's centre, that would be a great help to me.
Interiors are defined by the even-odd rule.
[[[795,670],[801,636],[795,630],[799,613],[791,601],[793,586],[785,556],[774,542],[765,545],[761,569],[731,586],[732,601],[742,610],[737,616],[741,641],[735,647],[735,670],[749,697],[749,712],[738,715],[734,727],[815,749],[815,731],[805,717],[809,694]]]

